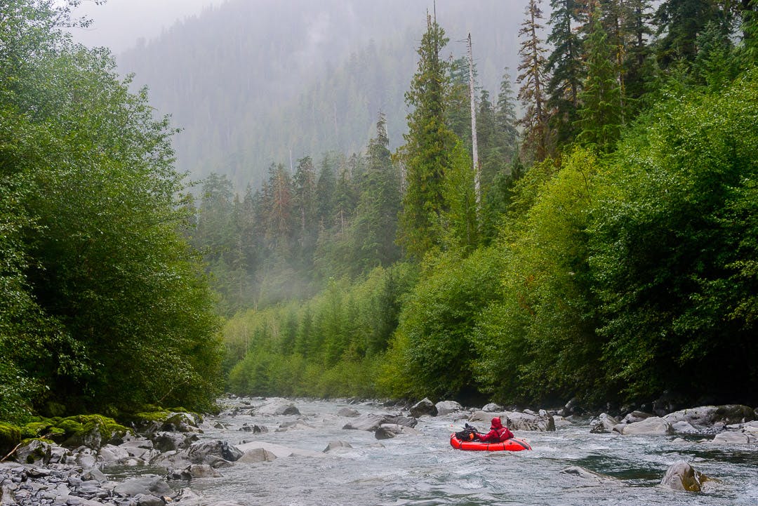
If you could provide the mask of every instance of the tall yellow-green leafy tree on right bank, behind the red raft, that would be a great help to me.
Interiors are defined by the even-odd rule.
[[[498,401],[593,392],[600,371],[585,230],[596,170],[578,150],[558,172],[518,184],[519,200],[532,204],[500,245],[503,296],[482,312],[475,341],[476,377]]]

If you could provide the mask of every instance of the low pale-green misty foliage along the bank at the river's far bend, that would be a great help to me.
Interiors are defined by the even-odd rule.
[[[352,285],[330,280],[305,304],[238,314],[224,328],[230,391],[377,395],[379,365],[414,283],[409,264],[377,267]]]

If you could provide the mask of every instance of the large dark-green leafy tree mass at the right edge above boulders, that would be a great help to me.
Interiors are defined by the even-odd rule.
[[[756,377],[756,82],[660,108],[603,177],[590,264],[604,361],[630,395],[720,395]],[[713,364],[728,372],[703,375]]]

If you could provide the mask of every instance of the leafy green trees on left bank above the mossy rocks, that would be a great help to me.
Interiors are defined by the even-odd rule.
[[[174,132],[72,23],[0,3],[0,420],[211,408],[221,320]]]

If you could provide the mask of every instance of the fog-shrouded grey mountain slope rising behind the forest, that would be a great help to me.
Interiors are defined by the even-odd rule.
[[[327,151],[352,154],[377,114],[395,148],[414,47],[431,3],[230,0],[120,55],[119,67],[150,89],[151,103],[183,129],[178,168],[193,178],[224,174],[257,188],[269,164]],[[455,38],[444,58],[465,54],[469,32],[481,83],[516,64],[517,2],[446,2],[437,16]]]

